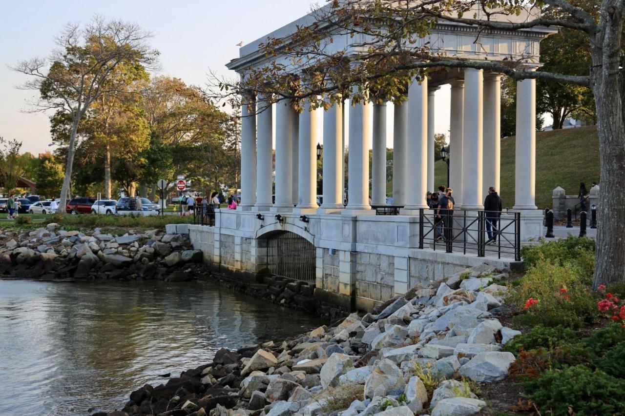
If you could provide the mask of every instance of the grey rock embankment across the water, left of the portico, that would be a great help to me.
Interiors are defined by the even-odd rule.
[[[169,227],[169,226],[168,226]],[[64,230],[58,224],[0,234],[0,277],[37,280],[148,280],[182,282],[204,272],[202,252],[189,235],[162,230],[112,235],[100,229]]]

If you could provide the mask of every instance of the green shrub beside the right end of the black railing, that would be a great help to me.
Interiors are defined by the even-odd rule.
[[[558,265],[571,263],[581,269],[582,275],[591,279],[594,270],[594,250],[594,239],[569,235],[566,239],[523,247],[521,256],[527,269],[536,266],[540,260]]]

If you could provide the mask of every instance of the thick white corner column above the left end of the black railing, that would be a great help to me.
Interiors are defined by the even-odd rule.
[[[406,214],[427,208],[427,78],[408,89],[408,164]],[[412,212],[411,212],[412,211]]]

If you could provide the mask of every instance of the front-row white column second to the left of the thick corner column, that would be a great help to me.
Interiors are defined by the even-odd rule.
[[[342,104],[334,104],[323,113],[323,202],[327,213],[340,212],[343,207],[341,190],[341,154],[343,141]]]

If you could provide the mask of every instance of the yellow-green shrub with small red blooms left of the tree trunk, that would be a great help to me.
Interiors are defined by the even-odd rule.
[[[586,284],[579,267],[538,260],[521,279],[509,300],[526,313],[514,319],[522,325],[578,328],[594,322],[598,311],[596,295]]]

